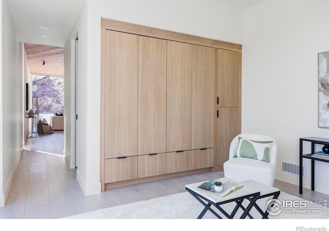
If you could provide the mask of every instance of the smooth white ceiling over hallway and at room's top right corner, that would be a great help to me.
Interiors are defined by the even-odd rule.
[[[213,0],[245,9],[261,0]],[[63,47],[86,0],[7,0],[20,42]],[[49,27],[49,30],[39,29]],[[44,34],[45,37],[40,35]]]

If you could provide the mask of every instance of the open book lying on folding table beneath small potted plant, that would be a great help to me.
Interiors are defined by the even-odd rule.
[[[231,192],[243,187],[243,184],[240,184],[240,183],[235,183],[235,182],[230,182],[230,181],[221,181],[222,186],[223,186],[223,191],[217,192],[214,189],[215,181],[216,180],[210,180],[210,181],[204,182],[201,185],[199,185],[196,189],[204,191],[204,192],[208,192],[209,194],[216,195],[219,197],[225,197],[225,196],[229,195]]]

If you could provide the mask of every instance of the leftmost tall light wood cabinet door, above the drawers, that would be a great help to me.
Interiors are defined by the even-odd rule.
[[[138,36],[105,36],[105,159],[136,156]]]

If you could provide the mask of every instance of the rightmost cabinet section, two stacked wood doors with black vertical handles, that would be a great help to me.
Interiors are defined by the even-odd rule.
[[[222,171],[231,141],[241,132],[241,52],[217,49],[215,170]]]

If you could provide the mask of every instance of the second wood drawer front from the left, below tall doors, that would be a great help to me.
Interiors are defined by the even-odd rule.
[[[166,174],[166,154],[138,156],[138,178]]]

